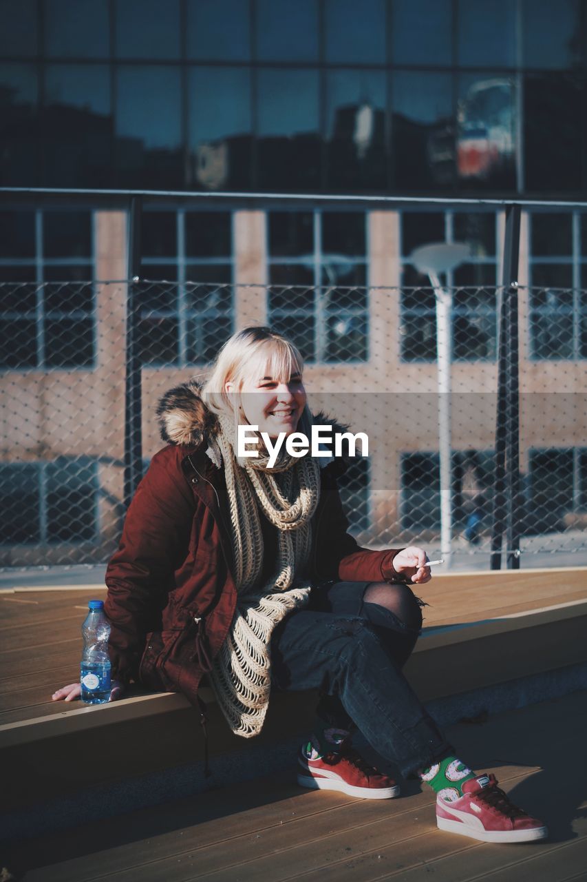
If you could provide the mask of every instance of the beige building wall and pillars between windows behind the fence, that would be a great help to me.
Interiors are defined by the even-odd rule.
[[[266,215],[234,212],[235,327],[266,324],[268,280]],[[503,218],[500,219],[503,231]],[[401,316],[398,212],[368,213],[369,358],[360,365],[308,365],[307,385],[331,401],[339,420],[366,430],[371,441],[371,516],[383,541],[397,530],[402,452],[438,450],[435,364],[400,361]],[[8,462],[83,456],[98,460],[100,534],[112,541],[122,514],[126,215],[94,213],[97,358],[93,370],[11,371],[0,388],[2,456]],[[502,235],[500,235],[500,242]],[[587,362],[532,362],[528,350],[528,222],[520,247],[520,379],[524,469],[532,447],[587,444],[587,415],[569,396],[587,389]],[[501,270],[500,276],[501,279]],[[143,370],[145,458],[161,446],[155,409],[167,389],[202,369]],[[494,446],[494,363],[456,363],[452,370],[452,445],[455,450]],[[384,392],[385,397],[376,395]],[[563,394],[566,392],[567,394]],[[324,398],[320,395],[323,393]],[[546,394],[545,394],[546,393]],[[375,404],[374,404],[375,401]],[[383,403],[382,403],[383,402]],[[79,546],[71,550],[77,553]],[[30,563],[63,559],[58,549],[23,551]],[[10,558],[10,552],[7,552]],[[41,558],[40,558],[41,555]],[[22,556],[20,556],[22,557]]]

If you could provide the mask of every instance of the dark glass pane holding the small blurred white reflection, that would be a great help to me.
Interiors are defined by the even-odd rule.
[[[385,83],[383,71],[327,72],[329,187],[368,190],[386,186]]]

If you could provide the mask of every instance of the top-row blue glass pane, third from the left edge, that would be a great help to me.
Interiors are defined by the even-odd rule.
[[[179,0],[117,0],[116,56],[179,58]]]

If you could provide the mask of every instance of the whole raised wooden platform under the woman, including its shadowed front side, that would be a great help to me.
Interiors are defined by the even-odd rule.
[[[197,712],[175,693],[133,693],[103,706],[52,702],[78,678],[87,600],[103,587],[0,593],[0,755],[11,809],[202,759]],[[587,662],[587,567],[437,575],[420,588],[425,630],[406,676],[423,701]],[[313,692],[276,693],[261,736],[233,736],[209,703],[214,757],[269,748],[307,731]],[[82,762],[96,756],[103,761]],[[83,774],[81,773],[83,770]]]

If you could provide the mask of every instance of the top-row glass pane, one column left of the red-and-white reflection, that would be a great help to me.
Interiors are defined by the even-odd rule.
[[[393,0],[393,64],[450,64],[451,0]]]

